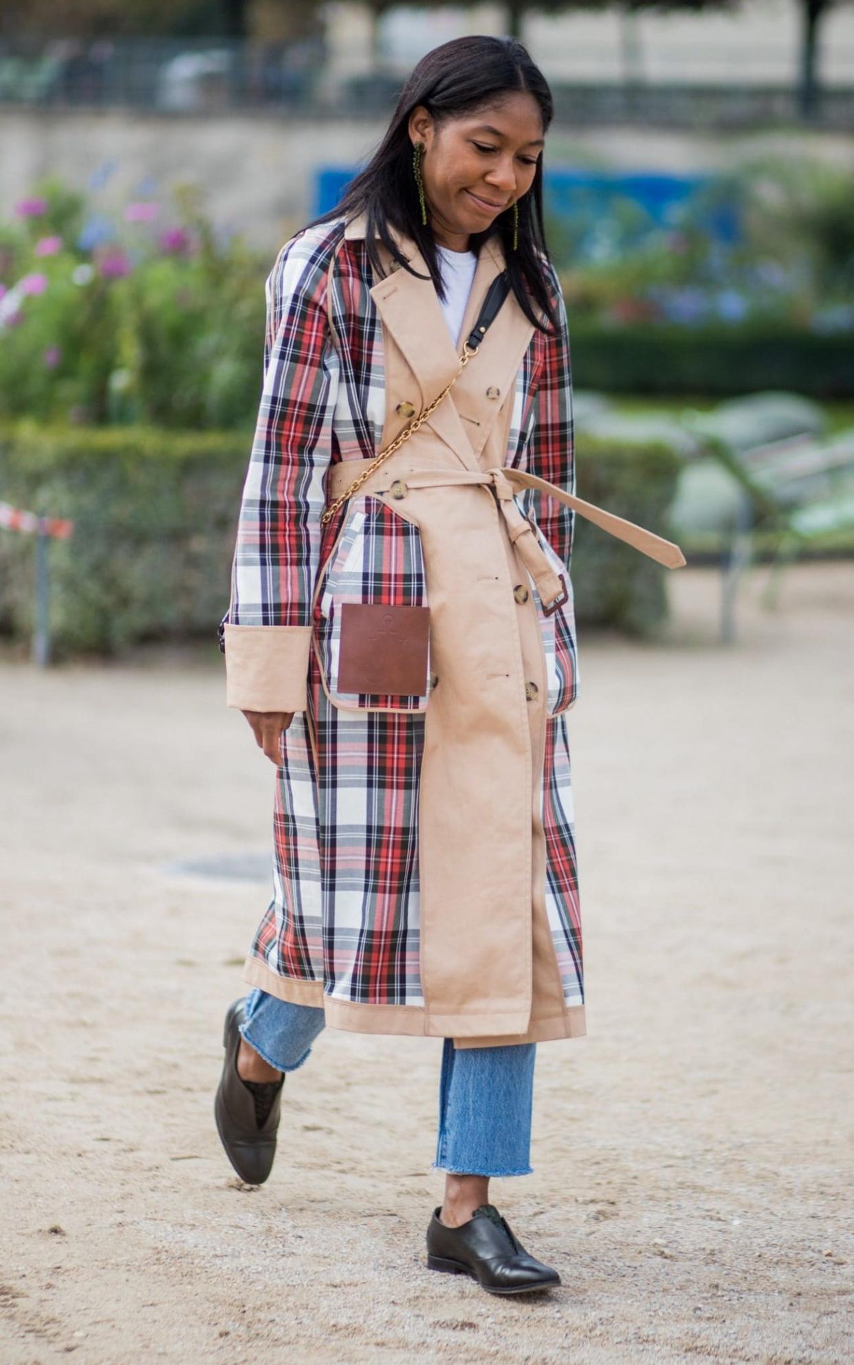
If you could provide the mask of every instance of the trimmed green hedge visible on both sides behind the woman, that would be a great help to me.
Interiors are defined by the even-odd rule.
[[[216,647],[250,445],[251,433],[239,431],[33,423],[0,431],[0,500],[75,521],[70,539],[51,545],[55,658],[122,654],[145,640],[202,637]],[[678,470],[664,446],[585,438],[578,489],[667,534]],[[33,536],[0,528],[0,629],[22,640],[33,628]],[[577,519],[579,621],[650,629],[667,612],[667,573]]]

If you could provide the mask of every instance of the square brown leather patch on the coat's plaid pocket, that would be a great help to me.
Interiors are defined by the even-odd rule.
[[[428,606],[344,602],[339,692],[424,696],[428,689]]]

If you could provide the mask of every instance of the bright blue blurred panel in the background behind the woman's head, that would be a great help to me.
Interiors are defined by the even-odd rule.
[[[357,171],[358,167],[322,167],[316,172],[316,217],[335,209]],[[650,232],[678,228],[686,210],[711,238],[730,244],[741,235],[738,212],[734,202],[715,195],[716,184],[717,179],[709,175],[547,171],[545,210],[571,222],[575,259],[619,255]]]

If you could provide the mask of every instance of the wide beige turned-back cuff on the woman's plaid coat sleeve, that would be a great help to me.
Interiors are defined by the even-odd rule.
[[[305,711],[310,625],[225,625],[225,706]]]

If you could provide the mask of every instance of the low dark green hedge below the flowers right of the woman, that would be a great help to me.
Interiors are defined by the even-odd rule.
[[[573,377],[579,389],[731,397],[791,389],[816,399],[854,397],[854,334],[786,325],[615,326],[570,315]]]

